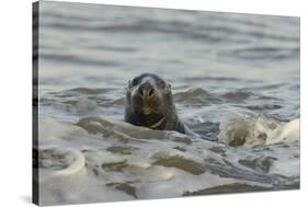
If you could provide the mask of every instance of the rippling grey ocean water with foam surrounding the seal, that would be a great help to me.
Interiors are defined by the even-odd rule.
[[[299,188],[298,18],[41,1],[38,20],[41,204]],[[204,139],[124,123],[142,72]]]

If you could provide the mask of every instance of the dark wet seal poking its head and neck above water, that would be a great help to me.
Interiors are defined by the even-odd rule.
[[[124,119],[151,129],[185,133],[175,112],[171,85],[152,73],[142,73],[128,81]]]

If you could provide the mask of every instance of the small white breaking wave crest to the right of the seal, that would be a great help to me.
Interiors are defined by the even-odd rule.
[[[219,141],[230,146],[256,146],[299,139],[299,119],[282,123],[246,114],[227,114],[219,126]]]

